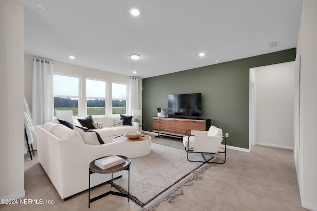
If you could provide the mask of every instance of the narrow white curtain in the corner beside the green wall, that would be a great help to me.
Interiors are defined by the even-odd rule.
[[[129,78],[129,104],[128,115],[132,115],[132,109],[139,109],[139,79]]]

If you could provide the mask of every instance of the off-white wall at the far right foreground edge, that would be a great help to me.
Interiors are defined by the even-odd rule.
[[[317,211],[317,1],[304,0],[297,42],[301,55],[300,149],[294,149],[302,206]]]

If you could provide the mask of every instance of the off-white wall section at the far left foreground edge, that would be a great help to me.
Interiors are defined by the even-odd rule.
[[[0,0],[0,199],[24,192],[23,4]]]

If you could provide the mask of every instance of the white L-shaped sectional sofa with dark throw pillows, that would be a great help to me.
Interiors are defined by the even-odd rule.
[[[102,145],[86,144],[79,132],[62,124],[48,122],[35,127],[38,160],[62,199],[88,189],[91,161],[103,156],[126,154],[123,142],[112,142],[114,135],[138,131],[138,123],[119,127],[109,124],[107,127],[111,119],[113,121],[113,118],[120,117],[103,117],[97,118],[104,124],[104,128],[96,129],[105,139]],[[122,173],[114,173],[113,178]],[[111,174],[91,174],[91,187],[110,179]]]

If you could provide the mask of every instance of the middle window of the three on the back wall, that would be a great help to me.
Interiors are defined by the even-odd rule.
[[[87,115],[106,114],[106,81],[86,80]]]

